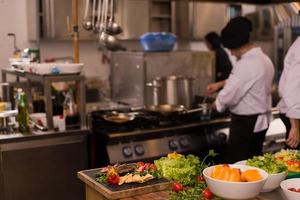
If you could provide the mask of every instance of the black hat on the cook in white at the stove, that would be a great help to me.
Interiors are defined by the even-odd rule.
[[[221,42],[228,49],[237,49],[247,44],[252,31],[252,23],[246,17],[231,19],[221,32]]]

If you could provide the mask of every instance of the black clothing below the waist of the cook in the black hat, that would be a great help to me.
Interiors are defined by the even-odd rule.
[[[254,133],[257,117],[258,114],[231,114],[229,141],[225,155],[226,163],[235,163],[256,155],[262,155],[267,129]]]

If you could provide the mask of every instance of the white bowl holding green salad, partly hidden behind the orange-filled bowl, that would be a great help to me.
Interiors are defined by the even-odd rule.
[[[247,160],[241,160],[236,162],[237,165],[247,165]],[[270,192],[279,187],[281,181],[287,176],[287,172],[281,172],[277,174],[269,174],[268,179],[261,192]]]

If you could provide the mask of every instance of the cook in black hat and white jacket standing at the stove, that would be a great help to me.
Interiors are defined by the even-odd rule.
[[[231,113],[230,135],[225,161],[233,163],[262,154],[265,134],[269,126],[271,89],[274,66],[260,47],[249,42],[251,22],[237,17],[221,33],[222,44],[237,57],[227,80],[208,85],[217,95],[215,107],[219,112]]]

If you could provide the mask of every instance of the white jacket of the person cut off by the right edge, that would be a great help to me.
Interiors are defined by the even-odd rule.
[[[278,108],[289,118],[300,119],[300,37],[289,48],[279,81]]]

